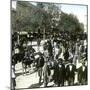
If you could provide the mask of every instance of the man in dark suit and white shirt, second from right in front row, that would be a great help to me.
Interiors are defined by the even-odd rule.
[[[75,72],[76,72],[76,66],[72,63],[72,59],[70,60],[70,63],[66,66],[66,79],[68,81],[68,85],[74,85],[75,80]]]

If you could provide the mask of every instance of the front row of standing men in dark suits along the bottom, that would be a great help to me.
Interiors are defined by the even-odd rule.
[[[55,60],[53,66],[50,66],[50,61],[43,60],[42,63],[43,62],[44,64],[38,69],[38,74],[39,83],[43,79],[44,87],[47,87],[49,82],[53,82],[54,86],[58,87],[87,84],[87,66],[85,65],[85,62],[82,62],[82,65],[79,68],[73,64],[72,60],[65,64],[61,58]]]

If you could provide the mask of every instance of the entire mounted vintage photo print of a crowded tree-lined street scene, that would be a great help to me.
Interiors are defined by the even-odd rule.
[[[88,85],[88,5],[11,0],[11,90]]]

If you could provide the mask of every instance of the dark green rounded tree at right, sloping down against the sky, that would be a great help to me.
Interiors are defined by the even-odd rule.
[[[76,16],[73,14],[66,14],[64,12],[61,13],[59,28],[70,33],[79,33],[84,31],[84,25],[79,22]]]

